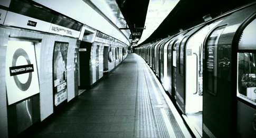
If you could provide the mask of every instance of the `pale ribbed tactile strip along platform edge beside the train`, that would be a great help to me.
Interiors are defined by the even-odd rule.
[[[143,64],[146,63],[141,60],[138,67],[135,137],[185,137],[163,94],[159,93],[160,90],[156,87],[156,82],[153,84],[149,81],[149,77],[152,76],[146,75],[145,70],[148,69]],[[156,97],[155,91],[157,91],[158,97]],[[163,112],[172,128],[166,127]],[[173,129],[175,134],[170,136],[167,129]]]

